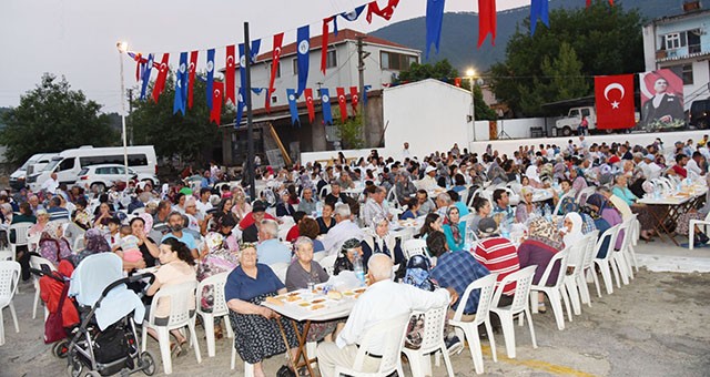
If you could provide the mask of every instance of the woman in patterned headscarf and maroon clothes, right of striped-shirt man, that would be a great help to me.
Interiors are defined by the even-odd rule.
[[[544,217],[537,217],[530,222],[529,225],[530,235],[518,247],[518,258],[520,261],[520,268],[527,266],[537,266],[535,269],[535,276],[532,277],[532,284],[540,284],[540,279],[547,269],[547,265],[550,263],[555,254],[560,252],[564,247],[562,240],[557,232],[557,227],[545,220]],[[559,265],[552,267],[552,271],[544,282],[545,285],[555,285],[557,283],[557,276],[559,275]],[[538,310],[545,313],[545,295],[538,294]]]

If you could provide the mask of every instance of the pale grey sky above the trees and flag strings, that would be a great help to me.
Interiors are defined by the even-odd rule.
[[[444,0],[440,0],[444,1]],[[274,33],[284,44],[295,42],[296,29],[311,26],[320,35],[322,19],[369,2],[367,0],[3,0],[0,3],[0,106],[17,106],[20,96],[36,88],[44,72],[65,77],[74,90],[102,104],[104,112],[121,112],[120,54],[116,41],[128,41],[136,52],[202,51],[243,41],[243,23],[251,39],[262,39],[270,51]],[[378,0],[381,6],[386,0]],[[476,0],[448,0],[447,12],[477,12]],[[497,0],[498,11],[529,6],[530,0]],[[425,0],[400,0],[389,21],[364,14],[355,22],[338,20],[339,28],[374,31],[389,23],[426,14]],[[471,38],[477,38],[471,31]],[[221,49],[221,51],[220,51]],[[222,59],[223,60],[223,59]],[[135,64],[124,58],[126,88],[135,85]],[[216,67],[222,67],[219,59]],[[153,79],[155,73],[153,73]]]

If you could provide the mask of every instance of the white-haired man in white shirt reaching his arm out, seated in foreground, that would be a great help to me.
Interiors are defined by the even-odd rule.
[[[377,323],[412,313],[412,310],[426,312],[458,299],[456,291],[450,287],[428,292],[393,282],[393,262],[386,254],[373,255],[367,267],[367,275],[373,283],[357,299],[345,327],[335,343],[323,342],[318,345],[318,368],[323,377],[334,376],[335,367],[338,365],[352,367],[357,355],[357,345],[367,334],[367,329]],[[382,340],[384,343],[384,339]],[[372,345],[373,355],[382,355],[383,343]],[[379,361],[379,358],[367,356],[363,371],[376,371]]]

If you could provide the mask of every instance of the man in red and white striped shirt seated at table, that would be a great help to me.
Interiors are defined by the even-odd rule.
[[[485,217],[478,223],[480,242],[474,251],[474,257],[491,274],[498,274],[498,282],[520,269],[518,252],[513,243],[498,235],[498,224],[491,217]],[[507,299],[515,293],[515,283],[504,288],[499,306],[507,305]]]

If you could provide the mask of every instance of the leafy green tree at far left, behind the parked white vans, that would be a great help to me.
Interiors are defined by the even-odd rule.
[[[2,114],[6,126],[0,144],[6,157],[22,163],[32,154],[60,152],[81,145],[118,145],[120,137],[100,113],[101,105],[71,90],[63,77],[42,75],[40,84],[20,99],[20,105]]]

